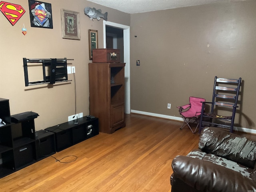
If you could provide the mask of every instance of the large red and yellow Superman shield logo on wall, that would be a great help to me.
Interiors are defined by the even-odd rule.
[[[10,21],[12,26],[16,24],[16,22],[22,17],[22,15],[26,12],[22,6],[1,1],[0,2],[0,10],[4,14],[4,16]]]

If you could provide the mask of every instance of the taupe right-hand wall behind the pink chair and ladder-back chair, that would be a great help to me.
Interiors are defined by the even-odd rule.
[[[241,77],[236,126],[256,129],[255,10],[253,0],[131,14],[131,109],[180,117],[189,96],[211,100],[214,76]]]

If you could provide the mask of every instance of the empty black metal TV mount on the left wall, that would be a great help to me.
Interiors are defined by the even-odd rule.
[[[68,71],[67,71],[67,58],[50,58],[50,59],[27,59],[23,58],[24,65],[24,78],[25,86],[38,85],[38,84],[54,84],[56,82],[67,82]],[[29,65],[28,65],[29,64]],[[42,65],[42,77],[43,80],[29,81],[28,80],[28,66],[40,66]]]

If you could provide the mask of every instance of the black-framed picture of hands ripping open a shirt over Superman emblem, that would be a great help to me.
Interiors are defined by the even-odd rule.
[[[52,29],[52,4],[28,0],[30,25],[31,27],[41,27]]]

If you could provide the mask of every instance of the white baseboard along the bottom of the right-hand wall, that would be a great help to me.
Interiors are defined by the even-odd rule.
[[[132,113],[136,113],[136,114],[148,115],[148,116],[153,116],[153,117],[160,117],[160,118],[165,118],[165,119],[170,119],[170,120],[176,120],[176,121],[183,122],[183,118],[182,117],[162,115],[162,114],[150,113],[150,112],[144,112],[144,111],[137,111],[137,110],[131,110],[131,112]],[[243,128],[243,127],[235,127],[235,126],[234,126],[233,129],[235,131],[256,134],[256,130],[255,129],[249,129],[249,128]]]

